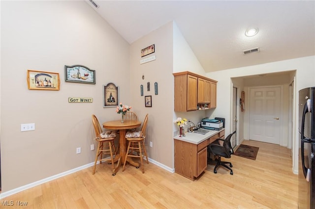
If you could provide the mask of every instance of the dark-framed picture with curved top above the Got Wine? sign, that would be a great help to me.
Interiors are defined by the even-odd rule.
[[[95,84],[95,70],[83,65],[64,65],[64,78],[66,82]]]

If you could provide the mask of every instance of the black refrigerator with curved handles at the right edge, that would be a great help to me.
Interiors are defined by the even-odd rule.
[[[315,209],[315,87],[299,91],[299,209]]]

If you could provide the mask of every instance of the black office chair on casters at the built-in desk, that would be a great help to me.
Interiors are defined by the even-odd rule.
[[[217,164],[215,166],[215,169],[213,170],[215,174],[217,173],[217,168],[219,166],[223,166],[229,169],[230,174],[233,175],[233,170],[229,168],[227,165],[225,165],[225,164],[230,164],[230,167],[233,167],[232,163],[221,161],[221,157],[231,158],[231,155],[234,154],[233,148],[231,146],[231,137],[234,133],[236,133],[236,131],[234,131],[233,133],[230,133],[224,140],[217,139],[216,141],[208,145],[208,153],[213,153],[213,155],[216,158],[218,158],[216,159]],[[223,141],[223,145],[220,144],[220,141]]]

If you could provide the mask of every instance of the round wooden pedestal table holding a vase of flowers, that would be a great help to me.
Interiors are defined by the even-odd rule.
[[[105,129],[110,130],[119,130],[119,155],[115,156],[114,161],[118,161],[121,157],[122,164],[125,161],[126,157],[126,130],[127,129],[134,129],[141,125],[141,121],[134,121],[134,120],[124,120],[124,123],[122,123],[121,120],[115,120],[115,121],[107,121],[103,123],[103,127]],[[127,161],[136,167],[139,167],[139,163],[134,162],[131,157],[127,157]]]

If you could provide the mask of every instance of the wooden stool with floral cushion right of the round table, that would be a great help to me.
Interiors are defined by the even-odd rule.
[[[128,143],[128,148],[127,148],[126,157],[125,157],[125,161],[124,161],[123,171],[125,170],[127,157],[140,158],[142,173],[144,173],[143,155],[142,154],[145,155],[147,163],[149,163],[149,158],[148,158],[147,151],[146,151],[145,144],[144,144],[144,140],[146,137],[147,123],[148,123],[148,115],[149,114],[147,114],[145,119],[144,119],[141,131],[132,131],[132,132],[127,131],[126,132],[126,140],[129,143]]]

